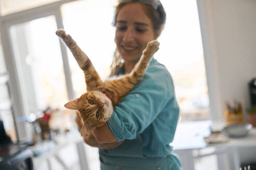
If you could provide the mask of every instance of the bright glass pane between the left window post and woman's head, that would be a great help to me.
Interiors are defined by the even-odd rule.
[[[61,7],[66,32],[92,60],[101,78],[107,77],[116,48],[112,26],[114,2],[116,1],[88,0]],[[86,91],[84,75],[69,50],[68,54],[73,87],[76,96],[80,96]]]

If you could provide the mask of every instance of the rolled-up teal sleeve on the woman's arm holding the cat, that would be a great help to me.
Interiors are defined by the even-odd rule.
[[[148,68],[142,81],[116,106],[108,126],[117,141],[134,139],[174,98],[173,81],[164,66]]]

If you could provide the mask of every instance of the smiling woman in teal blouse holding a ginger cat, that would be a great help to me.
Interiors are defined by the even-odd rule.
[[[159,37],[165,23],[158,0],[119,2],[114,16],[118,52],[112,75],[130,73],[147,43]],[[162,64],[152,59],[142,82],[114,107],[110,120],[84,140],[100,148],[102,170],[181,169],[169,146],[178,111],[172,78]]]

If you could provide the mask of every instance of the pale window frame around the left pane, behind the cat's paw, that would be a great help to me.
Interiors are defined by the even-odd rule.
[[[11,103],[14,108],[15,117],[29,115],[29,106],[24,99],[24,82],[23,75],[21,72],[21,66],[16,62],[16,56],[14,54],[14,47],[11,43],[10,26],[28,22],[34,19],[44,18],[48,16],[55,16],[57,29],[63,29],[61,5],[72,2],[73,0],[63,0],[52,4],[24,10],[17,13],[11,13],[10,15],[0,17],[0,32],[1,41],[3,44],[4,58],[6,62],[6,69],[9,74],[10,81],[10,93],[12,96]],[[67,49],[60,43],[60,50],[62,55],[63,67],[66,78],[66,86],[68,92],[68,99],[74,99],[74,91],[71,80],[71,72],[68,60]],[[25,127],[24,122],[17,123],[19,140],[28,140],[30,137],[29,130]]]

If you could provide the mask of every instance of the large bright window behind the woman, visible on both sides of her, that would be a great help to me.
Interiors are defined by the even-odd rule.
[[[161,2],[167,12],[167,22],[159,37],[160,49],[155,58],[173,77],[181,120],[208,120],[208,88],[196,1]],[[111,1],[87,0],[65,4],[61,8],[65,30],[89,56],[102,78],[106,77],[116,48],[114,27],[111,26],[112,6]],[[86,90],[83,72],[70,51],[69,61],[78,97]]]

